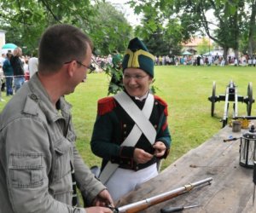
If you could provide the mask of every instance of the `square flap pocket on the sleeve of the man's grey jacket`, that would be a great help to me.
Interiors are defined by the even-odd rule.
[[[12,153],[9,158],[11,185],[16,188],[39,187],[44,183],[42,153]]]

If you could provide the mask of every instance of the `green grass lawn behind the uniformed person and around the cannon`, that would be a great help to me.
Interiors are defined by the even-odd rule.
[[[256,67],[235,66],[156,66],[154,85],[157,95],[169,105],[169,128],[172,150],[163,162],[162,169],[172,164],[190,149],[198,147],[222,127],[219,120],[224,114],[224,101],[215,104],[215,117],[211,117],[212,82],[216,81],[216,95],[224,95],[226,86],[233,80],[238,95],[247,96],[247,85],[256,89]],[[78,135],[77,146],[89,166],[100,165],[101,159],[90,151],[90,136],[96,118],[96,103],[108,94],[108,77],[93,73],[86,83],[80,83],[75,93],[67,96],[73,104],[73,123]],[[3,94],[3,99],[9,97]],[[6,102],[0,102],[0,111]],[[231,118],[232,106],[230,106]],[[239,103],[238,115],[246,115],[246,104]],[[253,105],[252,115],[256,115]],[[100,134],[100,133],[99,133]]]

